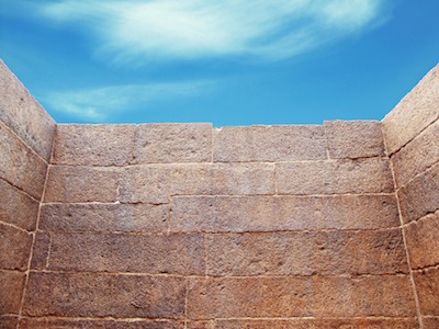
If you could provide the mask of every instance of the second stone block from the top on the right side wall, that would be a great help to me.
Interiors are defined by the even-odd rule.
[[[392,161],[398,186],[439,162],[439,121],[397,151]]]

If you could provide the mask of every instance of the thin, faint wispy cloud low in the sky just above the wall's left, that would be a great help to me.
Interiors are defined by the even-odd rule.
[[[214,81],[112,86],[95,89],[52,92],[42,99],[56,112],[81,120],[102,122],[115,114],[166,99],[188,98],[213,90]]]

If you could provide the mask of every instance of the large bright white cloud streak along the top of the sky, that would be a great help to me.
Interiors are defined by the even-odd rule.
[[[382,22],[385,0],[64,0],[44,18],[98,36],[116,61],[289,58]]]

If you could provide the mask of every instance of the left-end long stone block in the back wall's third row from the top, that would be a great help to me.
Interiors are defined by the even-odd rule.
[[[45,204],[40,227],[49,231],[166,232],[169,205]]]

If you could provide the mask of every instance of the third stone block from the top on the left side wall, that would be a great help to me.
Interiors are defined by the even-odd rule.
[[[38,215],[38,203],[0,179],[0,222],[34,230]]]

